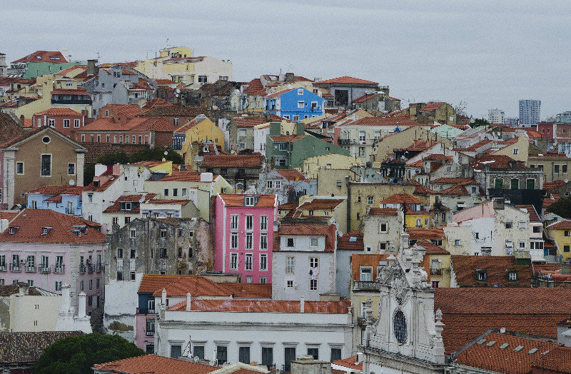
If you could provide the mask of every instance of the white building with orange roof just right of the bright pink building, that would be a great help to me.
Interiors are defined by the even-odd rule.
[[[320,300],[322,293],[335,293],[335,225],[282,224],[273,248],[272,298],[291,300],[305,296]]]

